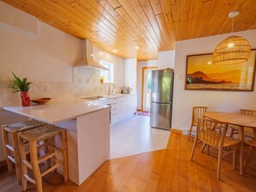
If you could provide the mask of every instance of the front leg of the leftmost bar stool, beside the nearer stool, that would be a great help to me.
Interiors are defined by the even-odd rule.
[[[22,184],[21,158],[17,141],[17,132],[11,133],[11,139],[14,149],[14,158],[16,160],[16,177],[18,178],[18,182]]]

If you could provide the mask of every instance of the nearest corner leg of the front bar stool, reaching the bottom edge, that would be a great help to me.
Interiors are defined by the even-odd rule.
[[[30,158],[33,168],[36,192],[42,192],[41,171],[37,160],[36,140],[29,141]]]

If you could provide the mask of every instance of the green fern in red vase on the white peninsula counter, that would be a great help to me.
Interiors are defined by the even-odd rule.
[[[13,75],[13,80],[10,82],[9,88],[12,90],[13,93],[21,92],[22,106],[29,106],[30,98],[28,95],[28,90],[30,88],[30,84],[32,83],[27,82],[27,77],[21,79],[19,77],[16,77],[16,74],[14,74],[12,71],[11,73]]]

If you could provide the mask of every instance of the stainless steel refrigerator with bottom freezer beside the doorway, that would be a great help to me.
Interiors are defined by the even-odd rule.
[[[172,127],[172,69],[152,71],[150,126],[170,130]]]

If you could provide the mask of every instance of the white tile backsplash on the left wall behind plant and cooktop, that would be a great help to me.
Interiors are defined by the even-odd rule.
[[[30,98],[50,97],[53,100],[69,100],[83,96],[103,96],[108,94],[108,84],[100,84],[99,71],[76,68],[73,70],[73,83],[31,81],[28,91]],[[0,107],[20,105],[20,94],[12,93],[9,81],[0,81]],[[119,93],[121,88],[116,89]]]

